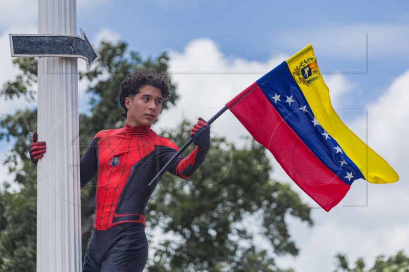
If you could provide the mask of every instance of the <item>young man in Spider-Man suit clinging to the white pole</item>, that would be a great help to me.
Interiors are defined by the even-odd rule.
[[[95,219],[84,257],[83,271],[142,271],[148,258],[145,208],[154,188],[148,186],[177,152],[175,143],[150,128],[169,98],[166,73],[141,70],[121,84],[119,104],[126,119],[121,129],[97,133],[80,160],[81,188],[96,174]],[[210,147],[210,126],[199,118],[191,132],[197,145],[180,155],[168,171],[187,179],[200,166]],[[46,152],[37,142],[30,157],[36,163]]]

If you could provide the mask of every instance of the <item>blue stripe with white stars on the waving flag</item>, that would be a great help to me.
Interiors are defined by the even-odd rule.
[[[356,179],[363,179],[361,171],[342,146],[315,120],[285,61],[259,79],[257,84],[292,130],[335,175],[349,185]]]

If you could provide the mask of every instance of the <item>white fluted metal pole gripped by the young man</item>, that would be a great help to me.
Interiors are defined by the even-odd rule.
[[[77,35],[76,0],[39,0],[38,34]],[[81,270],[78,66],[38,59],[37,271]]]

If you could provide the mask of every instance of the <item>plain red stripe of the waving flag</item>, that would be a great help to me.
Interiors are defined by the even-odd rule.
[[[343,199],[350,185],[340,180],[311,152],[267,100],[257,83],[226,106],[274,155],[287,175],[324,210],[329,211]]]

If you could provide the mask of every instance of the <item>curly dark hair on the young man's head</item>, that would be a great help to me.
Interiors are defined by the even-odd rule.
[[[171,88],[166,72],[139,70],[133,75],[128,75],[121,83],[121,90],[119,91],[119,105],[124,109],[124,113],[121,114],[124,119],[126,119],[128,115],[128,109],[125,107],[125,98],[129,97],[133,100],[135,94],[139,93],[139,89],[145,85],[151,85],[161,89],[164,99],[170,96]]]

